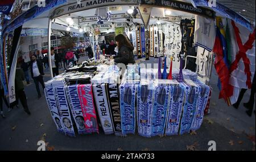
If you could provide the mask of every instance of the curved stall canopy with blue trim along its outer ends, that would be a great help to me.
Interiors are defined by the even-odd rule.
[[[117,7],[118,6],[118,7]],[[121,1],[121,0],[112,0],[112,1],[81,1],[80,3],[77,3],[76,0],[53,0],[53,1],[46,1],[46,7],[38,7],[35,6],[28,10],[27,12],[24,12],[22,15],[20,15],[18,18],[10,22],[7,27],[4,29],[5,32],[13,31],[13,29],[19,27],[20,25],[28,22],[32,19],[39,19],[39,18],[59,18],[62,23],[61,25],[65,25],[65,16],[68,14],[71,14],[74,18],[77,18],[74,20],[74,24],[77,25],[92,25],[93,23],[89,24],[80,24],[80,19],[88,16],[95,16],[96,8],[99,7],[115,7],[116,10],[110,9],[113,14],[122,14],[123,11],[127,9],[129,6],[149,6],[153,7],[152,12],[154,12],[154,7],[160,7],[160,8],[168,8],[171,9],[171,12],[173,12],[172,16],[180,16],[183,17],[194,14],[199,15],[205,15],[209,17],[214,17],[215,12],[218,14],[221,14],[221,16],[225,16],[227,18],[233,19],[236,23],[239,23],[243,26],[245,26],[247,29],[252,31],[253,27],[250,24],[248,20],[243,18],[241,15],[237,14],[236,12],[230,10],[228,7],[225,7],[221,5],[220,3],[216,2],[216,6],[209,6],[207,0],[183,0],[183,1],[137,1],[137,0],[131,0],[131,1]],[[119,7],[122,8],[122,12],[118,9]],[[94,8],[94,9],[92,9]],[[90,11],[89,11],[90,10]],[[88,12],[89,11],[89,12]],[[183,12],[184,11],[184,12]],[[189,16],[190,16],[189,15]],[[64,17],[63,17],[64,16]],[[156,16],[156,15],[153,15]],[[61,19],[62,18],[62,19]],[[111,18],[110,18],[111,19]],[[152,18],[151,18],[152,19]],[[123,20],[115,20],[118,22],[123,22]],[[98,20],[100,22],[100,20]],[[142,20],[137,18],[134,20],[134,22],[142,23]],[[156,22],[156,21],[155,21]],[[150,20],[150,23],[155,23],[154,20]],[[77,26],[75,25],[74,28]]]

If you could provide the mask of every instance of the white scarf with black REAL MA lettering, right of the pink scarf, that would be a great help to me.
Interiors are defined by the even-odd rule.
[[[105,134],[113,134],[113,122],[110,116],[108,97],[105,84],[93,84],[93,93],[96,99],[98,115]]]

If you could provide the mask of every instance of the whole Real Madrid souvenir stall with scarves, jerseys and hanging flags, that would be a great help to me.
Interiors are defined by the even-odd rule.
[[[51,10],[48,35],[55,24],[79,29],[94,48],[93,58],[46,83],[57,131],[75,137],[102,128],[105,134],[154,137],[197,130],[209,107],[213,61],[220,98],[230,104],[239,89],[250,88],[254,27],[219,3],[192,2],[81,1]],[[135,58],[158,59],[157,66],[114,65],[97,46],[109,33],[125,35]]]

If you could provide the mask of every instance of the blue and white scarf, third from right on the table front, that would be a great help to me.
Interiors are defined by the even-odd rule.
[[[183,108],[185,87],[173,80],[170,89],[170,104],[166,124],[166,135],[177,135],[179,133],[181,110]]]

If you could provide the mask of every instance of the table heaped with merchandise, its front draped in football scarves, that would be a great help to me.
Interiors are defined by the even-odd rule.
[[[172,70],[173,80],[158,79],[157,73],[133,65],[121,74],[116,65],[101,64],[80,65],[52,78],[45,95],[57,130],[75,137],[102,127],[105,134],[126,136],[138,125],[139,135],[153,137],[199,129],[209,86],[189,70],[183,70],[181,82],[179,70]]]

